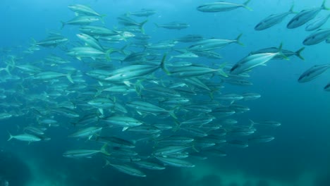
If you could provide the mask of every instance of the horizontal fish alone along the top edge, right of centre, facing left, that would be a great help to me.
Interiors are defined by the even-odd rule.
[[[216,1],[214,3],[208,3],[208,4],[202,4],[200,6],[197,6],[197,11],[201,12],[219,12],[219,11],[232,11],[236,8],[246,8],[249,11],[252,11],[250,7],[247,6],[247,4],[250,2],[250,0],[245,1],[243,4],[233,4],[226,1]]]

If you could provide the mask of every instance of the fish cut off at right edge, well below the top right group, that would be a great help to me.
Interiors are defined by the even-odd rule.
[[[311,68],[307,69],[300,77],[298,78],[298,82],[309,82],[314,80],[315,78],[319,77],[324,73],[326,70],[330,68],[330,64],[324,65],[317,65],[312,66]]]

